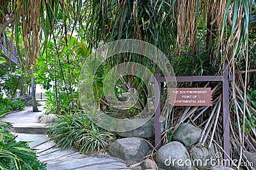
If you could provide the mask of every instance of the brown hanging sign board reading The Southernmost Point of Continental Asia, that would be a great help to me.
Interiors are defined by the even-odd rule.
[[[212,106],[211,88],[169,88],[172,106]]]

